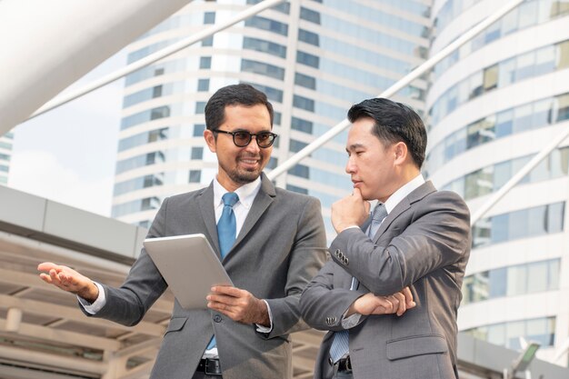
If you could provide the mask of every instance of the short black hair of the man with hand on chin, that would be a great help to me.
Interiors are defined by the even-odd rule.
[[[352,105],[348,111],[351,123],[363,117],[374,119],[373,133],[384,145],[404,142],[415,165],[421,168],[427,135],[423,120],[410,106],[375,97]]]

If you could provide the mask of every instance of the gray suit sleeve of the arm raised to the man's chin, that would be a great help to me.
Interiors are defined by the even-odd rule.
[[[463,260],[471,243],[466,204],[451,192],[430,197],[412,207],[411,223],[386,245],[374,244],[357,229],[338,234],[330,247],[334,262],[374,294],[389,295]],[[342,263],[335,251],[343,252],[348,264]]]

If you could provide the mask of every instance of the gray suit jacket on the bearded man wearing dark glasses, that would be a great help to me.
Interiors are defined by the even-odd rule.
[[[213,185],[165,199],[148,237],[205,234],[219,254]],[[304,286],[326,254],[320,203],[314,197],[262,186],[223,264],[235,286],[265,299],[273,330],[234,322],[210,310],[185,310],[175,302],[151,378],[189,379],[215,332],[224,379],[290,378],[289,334],[306,329],[299,309]],[[133,325],[164,293],[166,283],[143,249],[120,288],[105,286],[106,304],[97,317]]]

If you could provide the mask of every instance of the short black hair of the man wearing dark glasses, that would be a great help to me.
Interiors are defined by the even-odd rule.
[[[227,85],[218,89],[205,105],[205,127],[217,130],[225,120],[225,106],[227,105],[265,105],[271,117],[273,127],[273,105],[269,103],[266,95],[253,85]]]

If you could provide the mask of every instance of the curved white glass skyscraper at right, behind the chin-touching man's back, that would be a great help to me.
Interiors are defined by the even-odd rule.
[[[434,1],[434,55],[505,1]],[[427,172],[473,213],[569,127],[569,2],[529,0],[437,65]],[[553,360],[569,338],[569,141],[473,228],[459,328]],[[567,354],[557,364],[567,365]]]

